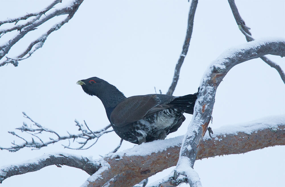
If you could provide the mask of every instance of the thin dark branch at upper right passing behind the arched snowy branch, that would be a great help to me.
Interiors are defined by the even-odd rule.
[[[245,35],[245,38],[247,41],[253,41],[254,38],[251,36],[251,32],[249,32],[250,28],[245,25],[245,21],[241,18],[241,15],[239,14],[237,6],[235,5],[235,0],[228,0],[228,2],[229,2],[229,5],[231,7],[231,10],[233,12],[233,16],[235,17],[235,21],[237,22],[237,25],[239,26],[239,30],[241,30],[241,32]],[[283,56],[285,56],[285,54],[283,54]],[[283,80],[283,82],[285,84],[285,73],[282,70],[282,68],[278,64],[276,64],[273,61],[266,58],[265,56],[262,56],[260,58],[265,63],[270,65],[270,67],[275,68],[278,71],[281,79]]]

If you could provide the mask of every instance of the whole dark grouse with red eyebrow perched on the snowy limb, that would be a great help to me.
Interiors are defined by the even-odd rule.
[[[76,84],[102,101],[114,131],[134,144],[164,139],[175,132],[185,120],[183,113],[193,114],[198,95],[148,94],[127,98],[115,86],[97,77]]]

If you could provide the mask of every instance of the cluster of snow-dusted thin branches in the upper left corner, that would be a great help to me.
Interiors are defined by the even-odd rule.
[[[11,47],[15,43],[17,43],[21,38],[23,38],[28,32],[37,29],[36,27],[42,25],[43,23],[45,23],[51,18],[54,18],[55,16],[68,15],[64,20],[52,26],[38,39],[32,41],[30,45],[27,47],[27,49],[23,53],[19,54],[17,57],[11,58],[6,56],[6,60],[0,63],[0,67],[9,63],[13,64],[14,66],[18,66],[19,61],[30,57],[36,50],[42,47],[42,45],[44,44],[46,38],[50,33],[52,33],[55,30],[58,30],[62,25],[67,23],[73,17],[78,7],[81,5],[82,1],[83,0],[73,0],[69,5],[66,5],[65,7],[60,9],[53,10],[52,8],[54,8],[54,5],[62,2],[62,0],[56,0],[53,1],[50,5],[48,5],[45,9],[39,11],[38,13],[30,13],[26,14],[25,16],[21,16],[19,18],[0,21],[0,26],[2,24],[15,22],[15,26],[0,30],[0,38],[1,36],[3,36],[8,32],[15,30],[19,31],[19,33],[14,38],[11,38],[7,43],[0,46],[0,60],[1,60],[9,52]],[[25,21],[25,22],[23,24],[18,24],[19,21],[22,22]]]

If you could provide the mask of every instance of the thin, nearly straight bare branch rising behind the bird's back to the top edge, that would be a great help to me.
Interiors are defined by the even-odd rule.
[[[172,95],[175,88],[176,88],[176,85],[177,85],[177,82],[179,79],[180,68],[181,68],[181,66],[184,62],[184,59],[187,55],[187,52],[188,52],[190,39],[191,39],[191,35],[192,35],[192,30],[193,30],[194,15],[195,15],[197,4],[198,4],[198,0],[192,0],[190,10],[189,10],[189,15],[188,15],[188,26],[187,26],[186,38],[184,40],[182,52],[179,56],[178,62],[176,64],[176,67],[174,70],[174,76],[172,79],[172,83],[171,83],[171,85],[170,85],[170,87],[166,93],[167,95]]]

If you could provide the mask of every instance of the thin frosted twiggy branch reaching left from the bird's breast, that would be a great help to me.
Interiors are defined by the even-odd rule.
[[[107,125],[106,127],[102,128],[101,130],[97,130],[97,131],[91,131],[89,129],[89,127],[87,126],[86,122],[84,121],[84,125],[80,124],[77,120],[75,120],[76,122],[76,126],[78,126],[78,130],[81,131],[80,134],[70,134],[68,133],[68,136],[60,136],[57,132],[55,132],[52,129],[48,129],[46,127],[41,126],[40,124],[38,124],[37,122],[35,122],[34,120],[32,120],[30,117],[28,117],[28,115],[26,115],[26,113],[24,113],[24,117],[29,119],[32,122],[32,126],[28,126],[25,122],[23,123],[23,125],[19,128],[16,128],[17,130],[21,130],[21,132],[25,132],[28,133],[32,136],[32,140],[28,141],[25,138],[19,136],[18,134],[16,134],[15,132],[9,132],[10,134],[17,136],[18,138],[24,140],[25,142],[22,144],[16,144],[15,141],[12,142],[13,146],[9,147],[9,148],[4,148],[4,147],[0,147],[1,150],[5,149],[8,150],[10,152],[15,152],[18,151],[19,149],[22,149],[24,147],[32,147],[35,149],[40,149],[41,147],[45,147],[48,146],[49,144],[54,144],[56,142],[59,142],[61,140],[69,140],[69,145],[68,146],[64,146],[64,148],[69,148],[69,149],[88,149],[89,147],[93,146],[98,139],[103,135],[103,134],[107,134],[109,132],[112,132],[114,130],[108,130],[111,127],[111,124]],[[57,138],[49,138],[49,141],[43,141],[40,138],[40,134],[42,132],[47,132],[50,134],[55,135]],[[77,147],[77,148],[72,148],[70,147],[70,139],[73,139],[73,142],[77,139],[83,139],[83,142],[79,142],[77,141],[81,146]],[[89,140],[93,140],[96,139],[95,142],[91,145],[86,147],[86,144],[89,142]],[[116,152],[119,147],[121,146],[121,143],[119,144],[119,146],[114,150],[114,152]]]

